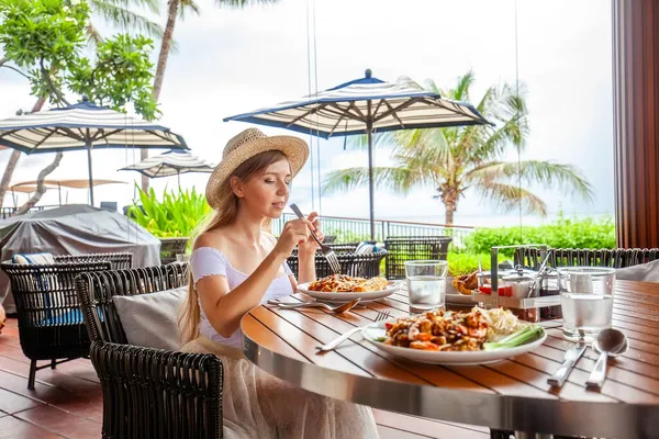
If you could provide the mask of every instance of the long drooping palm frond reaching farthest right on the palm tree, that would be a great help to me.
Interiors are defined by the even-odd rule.
[[[493,161],[477,167],[466,175],[466,181],[468,180],[477,185],[487,185],[491,182],[516,178],[521,178],[521,183],[524,187],[539,183],[544,187],[556,188],[566,194],[580,196],[587,201],[593,200],[592,185],[572,165],[540,160],[524,160],[518,164]]]

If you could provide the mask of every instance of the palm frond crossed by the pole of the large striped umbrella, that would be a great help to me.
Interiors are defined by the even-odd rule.
[[[418,185],[414,175],[404,168],[373,168],[373,183],[396,193],[406,194]],[[347,192],[368,187],[368,168],[348,168],[330,172],[323,181],[323,193]]]

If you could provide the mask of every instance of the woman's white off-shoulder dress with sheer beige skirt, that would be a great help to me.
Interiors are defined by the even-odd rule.
[[[211,247],[192,252],[190,268],[194,285],[206,275],[223,275],[230,289],[247,279],[225,255]],[[261,303],[293,292],[284,262],[284,274],[272,281]],[[201,337],[183,346],[187,352],[211,352],[224,367],[224,424],[239,438],[258,439],[371,439],[378,438],[369,407],[328,398],[288,384],[256,368],[242,354],[241,330],[222,337],[203,311]],[[232,435],[233,436],[233,435]],[[233,437],[232,437],[233,439]]]

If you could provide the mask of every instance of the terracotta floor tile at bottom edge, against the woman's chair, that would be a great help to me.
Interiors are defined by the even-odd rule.
[[[15,416],[70,439],[98,439],[101,436],[101,424],[80,418],[51,406],[21,412]]]

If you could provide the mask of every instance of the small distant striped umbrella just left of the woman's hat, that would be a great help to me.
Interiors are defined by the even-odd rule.
[[[120,171],[137,171],[148,178],[177,176],[179,188],[181,173],[213,172],[215,166],[193,156],[188,151],[169,150],[158,156],[148,157],[138,164],[121,168]]]

